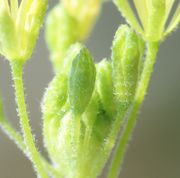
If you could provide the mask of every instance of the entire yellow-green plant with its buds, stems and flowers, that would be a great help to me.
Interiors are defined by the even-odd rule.
[[[0,53],[11,66],[22,135],[5,118],[2,102],[0,125],[32,161],[39,177],[97,177],[116,140],[108,177],[119,174],[159,45],[179,24],[180,4],[165,28],[174,0],[134,0],[142,26],[128,1],[114,2],[130,26],[117,30],[111,59],[96,64],[80,42],[88,37],[103,0],[62,0],[48,14],[45,36],[55,73],[42,102],[48,162],[33,139],[22,79],[48,2],[0,1]]]

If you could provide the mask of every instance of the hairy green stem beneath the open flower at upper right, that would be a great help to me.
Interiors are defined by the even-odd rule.
[[[124,130],[120,136],[119,143],[115,150],[111,167],[108,173],[108,178],[116,178],[120,173],[120,168],[122,167],[124,154],[127,149],[127,144],[136,125],[137,113],[141,107],[141,104],[144,100],[149,85],[158,47],[159,47],[159,43],[150,42],[147,44],[147,50],[148,50],[147,56],[145,59],[141,78],[137,87],[135,99],[132,103],[131,110],[127,117],[127,122],[124,126]]]

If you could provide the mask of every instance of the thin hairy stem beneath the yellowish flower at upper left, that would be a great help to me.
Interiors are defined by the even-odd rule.
[[[30,154],[32,163],[37,170],[38,175],[41,178],[48,178],[46,171],[44,170],[40,154],[38,153],[33,135],[31,132],[31,127],[29,124],[29,118],[26,110],[26,103],[24,97],[24,86],[23,86],[23,63],[21,61],[12,61],[11,63],[12,77],[15,87],[15,97],[18,106],[18,113],[20,117],[20,124],[22,128],[24,142],[27,146],[27,150]]]

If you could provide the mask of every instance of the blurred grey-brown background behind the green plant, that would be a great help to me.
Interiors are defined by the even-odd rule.
[[[53,4],[55,1],[51,0],[49,8]],[[87,41],[87,46],[96,60],[110,56],[113,35],[119,24],[124,22],[112,3],[104,4],[99,20]],[[176,31],[160,47],[150,89],[139,113],[121,178],[180,177],[179,55],[180,31]],[[24,72],[28,111],[39,150],[44,150],[40,103],[43,92],[53,77],[48,56],[42,30],[33,57],[28,61]],[[6,114],[19,129],[10,69],[3,58],[0,60],[0,86]],[[46,154],[45,151],[42,152]],[[0,131],[0,178],[35,177],[30,162]]]

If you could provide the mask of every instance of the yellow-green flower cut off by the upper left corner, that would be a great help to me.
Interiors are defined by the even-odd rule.
[[[0,52],[9,60],[26,61],[32,54],[47,0],[1,1]]]

